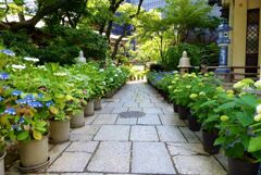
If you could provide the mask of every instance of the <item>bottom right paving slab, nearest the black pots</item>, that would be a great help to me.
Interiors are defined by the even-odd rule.
[[[174,157],[178,173],[186,175],[226,175],[224,168],[213,157]]]

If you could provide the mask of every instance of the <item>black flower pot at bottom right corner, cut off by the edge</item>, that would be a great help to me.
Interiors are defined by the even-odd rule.
[[[250,163],[239,159],[227,158],[229,175],[258,175],[260,163]]]

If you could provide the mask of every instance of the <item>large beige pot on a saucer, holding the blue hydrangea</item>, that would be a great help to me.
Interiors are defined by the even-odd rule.
[[[40,166],[48,161],[48,137],[20,142],[21,165],[26,168]]]

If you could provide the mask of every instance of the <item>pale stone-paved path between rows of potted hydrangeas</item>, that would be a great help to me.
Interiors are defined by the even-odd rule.
[[[121,112],[141,111],[141,117]],[[50,146],[45,173],[60,175],[226,175],[224,158],[208,155],[195,134],[146,83],[129,83],[102,110],[73,129],[71,142]],[[10,172],[11,175],[18,173]]]

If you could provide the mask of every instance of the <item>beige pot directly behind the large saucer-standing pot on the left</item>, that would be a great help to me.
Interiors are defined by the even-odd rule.
[[[50,121],[50,142],[63,143],[70,140],[70,121]]]

